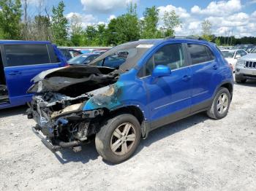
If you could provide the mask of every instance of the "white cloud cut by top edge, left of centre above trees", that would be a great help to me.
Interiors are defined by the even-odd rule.
[[[116,9],[125,8],[130,2],[137,3],[138,0],[80,0],[83,4],[83,9],[108,13],[113,12]]]

